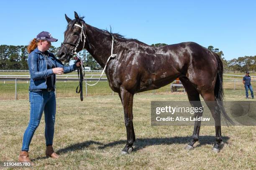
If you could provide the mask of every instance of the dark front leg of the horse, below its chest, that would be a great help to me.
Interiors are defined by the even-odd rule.
[[[133,151],[133,142],[135,133],[133,129],[133,94],[128,92],[124,87],[120,87],[119,97],[123,104],[125,127],[127,133],[127,142],[121,154],[128,154]]]

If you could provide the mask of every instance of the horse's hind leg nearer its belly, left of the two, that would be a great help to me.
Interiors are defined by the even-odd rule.
[[[188,80],[188,78],[179,77],[179,80],[181,80],[182,85],[187,91],[187,96],[192,107],[198,107],[198,108],[202,107],[202,104],[200,102],[200,94],[196,90],[196,88],[192,85],[192,83]],[[195,112],[195,117],[200,117],[200,116],[202,116],[202,112]],[[189,144],[186,145],[185,149],[187,150],[193,149],[193,145],[199,140],[200,125],[201,125],[201,121],[195,121],[192,139],[190,140]]]

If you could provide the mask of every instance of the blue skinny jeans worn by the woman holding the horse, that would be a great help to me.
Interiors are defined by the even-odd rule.
[[[52,145],[56,113],[56,98],[54,91],[29,92],[30,120],[23,135],[22,151],[28,151],[33,135],[38,127],[43,111],[45,120],[46,146]]]

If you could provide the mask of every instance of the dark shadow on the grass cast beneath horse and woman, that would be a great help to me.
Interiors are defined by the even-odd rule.
[[[134,145],[134,151],[137,150],[141,150],[143,148],[146,148],[147,146],[151,146],[151,145],[171,145],[171,144],[184,144],[186,145],[187,143],[189,143],[189,140],[191,139],[190,136],[185,136],[185,137],[173,137],[173,138],[139,138],[135,141]],[[222,140],[223,143],[228,143],[228,140],[230,138],[227,136],[223,136]],[[212,145],[215,143],[215,137],[214,136],[200,136],[199,137],[199,141],[200,144],[197,145],[197,147],[200,147],[202,145]],[[108,144],[103,145],[100,142],[94,141],[94,140],[89,140],[89,141],[84,141],[82,143],[75,143],[73,145],[69,145],[66,148],[57,150],[56,153],[61,155],[64,153],[68,153],[71,151],[76,151],[76,150],[82,150],[84,148],[88,148],[90,145],[99,145],[98,149],[105,149],[108,147],[114,147],[116,145],[123,145],[125,146],[126,144],[126,140],[118,140],[118,141],[114,141],[114,142],[110,142]],[[121,150],[122,148],[120,148]],[[34,160],[38,160],[38,159],[46,159],[46,157],[38,157],[35,158]]]

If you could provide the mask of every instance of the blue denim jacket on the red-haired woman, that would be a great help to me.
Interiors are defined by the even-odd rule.
[[[64,66],[60,60],[58,60],[52,53],[49,53],[49,59],[55,64],[56,67],[62,67],[64,70],[64,74],[69,73],[77,69],[76,64]],[[30,85],[29,89],[46,89],[46,77],[53,75],[52,69],[47,69],[46,60],[42,53],[36,47],[28,55],[28,68],[30,73]],[[56,79],[56,76],[55,76]],[[56,82],[56,80],[55,80]],[[55,89],[55,84],[54,84]]]

